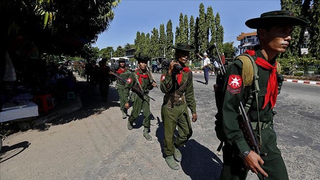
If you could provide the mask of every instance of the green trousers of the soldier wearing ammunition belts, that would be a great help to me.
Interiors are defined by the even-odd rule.
[[[183,146],[192,136],[192,128],[187,104],[182,102],[179,106],[174,106],[172,110],[167,109],[167,103],[162,104],[161,119],[164,127],[164,152],[167,156],[171,156],[175,152],[175,146]],[[174,134],[178,126],[178,135],[174,142]],[[174,144],[175,143],[175,144]]]

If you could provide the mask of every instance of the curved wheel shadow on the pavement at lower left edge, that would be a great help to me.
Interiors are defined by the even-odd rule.
[[[12,146],[2,146],[0,151],[0,163],[3,163],[16,155],[20,154],[26,148],[30,146],[28,141],[23,141],[21,143]]]

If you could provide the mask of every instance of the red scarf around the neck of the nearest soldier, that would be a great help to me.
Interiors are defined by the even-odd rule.
[[[255,50],[246,50],[244,53],[249,54],[250,56],[255,55]],[[275,65],[272,66],[268,61],[257,57],[256,58],[256,65],[259,65],[260,67],[263,67],[265,69],[268,69],[270,71],[270,77],[268,80],[268,86],[267,86],[267,94],[264,98],[264,104],[262,106],[262,109],[264,109],[268,102],[270,101],[271,103],[271,108],[274,107],[275,102],[277,101],[277,96],[278,96],[278,85],[277,85],[277,75],[276,75],[276,67],[277,67],[277,62],[275,62]]]

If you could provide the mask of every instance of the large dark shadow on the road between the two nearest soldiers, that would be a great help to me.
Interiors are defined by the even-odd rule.
[[[182,154],[181,167],[192,180],[219,180],[222,161],[207,147],[190,139],[179,147]]]

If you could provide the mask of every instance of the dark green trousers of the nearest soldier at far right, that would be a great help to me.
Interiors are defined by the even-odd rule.
[[[266,180],[288,180],[287,168],[277,147],[276,134],[272,127],[267,127],[261,131],[262,147],[260,153],[267,153],[267,156],[261,157],[264,161],[262,169],[268,174]],[[243,164],[242,158],[233,153],[232,146],[224,145],[223,159],[224,165],[221,172],[221,180],[246,179],[248,170]],[[258,175],[261,180],[261,174]]]

